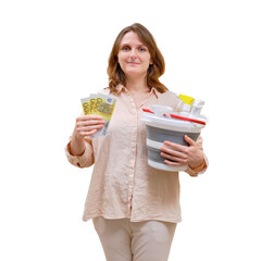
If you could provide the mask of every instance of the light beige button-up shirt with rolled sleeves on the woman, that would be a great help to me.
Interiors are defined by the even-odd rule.
[[[86,150],[80,157],[70,154],[70,142],[65,149],[69,161],[75,166],[95,164],[83,220],[103,216],[128,217],[133,222],[181,222],[178,172],[148,165],[146,126],[140,121],[142,108],[164,104],[176,110],[178,99],[171,91],[160,94],[152,88],[148,99],[137,109],[124,86],[117,86],[116,91],[110,94],[109,88],[101,91],[117,98],[109,135],[86,138]],[[201,146],[200,137],[197,142]],[[200,167],[200,173],[206,169],[207,163]],[[198,170],[190,167],[186,172],[191,176],[198,175]]]

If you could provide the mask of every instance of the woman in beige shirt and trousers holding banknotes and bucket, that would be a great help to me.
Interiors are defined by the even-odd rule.
[[[84,221],[94,220],[108,261],[166,261],[181,222],[177,172],[148,165],[142,108],[170,105],[176,95],[160,83],[164,59],[152,35],[140,24],[124,28],[109,58],[109,88],[117,98],[107,137],[90,139],[104,121],[98,115],[77,117],[66,147],[69,161],[79,167],[92,164]],[[188,164],[191,176],[207,169],[201,138],[189,147],[167,140],[161,148],[165,164]]]

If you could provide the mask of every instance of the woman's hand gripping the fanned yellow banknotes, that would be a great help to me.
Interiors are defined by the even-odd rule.
[[[97,133],[104,125],[100,115],[82,115],[76,119],[73,136],[75,139],[83,139]]]

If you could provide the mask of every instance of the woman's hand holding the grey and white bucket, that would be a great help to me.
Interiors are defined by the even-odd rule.
[[[164,163],[167,165],[178,166],[188,164],[190,167],[196,169],[203,162],[203,151],[187,135],[184,136],[184,139],[188,142],[188,147],[164,141],[164,145],[167,147],[160,148],[162,151],[161,156],[166,159]]]

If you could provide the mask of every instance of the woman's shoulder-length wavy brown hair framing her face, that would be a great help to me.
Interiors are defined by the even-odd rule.
[[[159,77],[165,72],[164,58],[161,54],[153,36],[150,32],[141,24],[135,23],[130,26],[125,27],[117,35],[114,45],[109,57],[109,65],[107,73],[109,75],[109,88],[111,91],[115,90],[119,84],[125,85],[126,77],[117,62],[117,53],[120,50],[120,42],[123,36],[128,33],[134,32],[138,35],[140,41],[148,47],[151,60],[153,64],[150,64],[147,71],[147,84],[150,88],[154,87],[160,92],[165,92],[167,88],[159,80]]]

